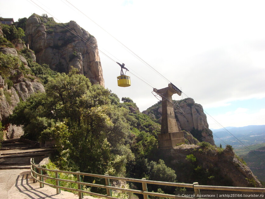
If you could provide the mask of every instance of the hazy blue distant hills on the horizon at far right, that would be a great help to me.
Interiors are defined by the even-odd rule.
[[[265,143],[265,125],[250,125],[243,127],[225,127],[225,129],[211,129],[213,131],[214,142],[217,146],[220,144],[229,144],[234,148],[253,144]],[[228,132],[229,131],[229,132]],[[242,143],[240,143],[240,140]],[[221,139],[219,139],[219,138]],[[223,140],[223,141],[222,141]],[[225,143],[224,143],[225,142]]]

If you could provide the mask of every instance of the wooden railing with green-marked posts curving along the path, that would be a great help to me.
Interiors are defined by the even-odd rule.
[[[265,192],[265,188],[205,186],[205,185],[198,185],[198,183],[193,183],[193,184],[170,183],[170,182],[146,180],[144,178],[143,179],[132,179],[132,178],[108,176],[108,174],[106,174],[106,175],[98,175],[98,174],[81,173],[81,172],[51,170],[51,169],[46,169],[46,168],[42,168],[42,167],[39,167],[39,166],[35,165],[34,158],[30,159],[30,169],[31,169],[31,176],[33,178],[33,182],[34,183],[39,182],[40,183],[40,188],[44,187],[44,185],[48,185],[50,187],[54,187],[54,188],[56,188],[56,194],[59,194],[61,192],[61,189],[69,190],[69,191],[76,191],[76,192],[78,192],[79,199],[83,198],[83,193],[89,194],[89,195],[94,195],[94,196],[97,196],[97,197],[103,197],[103,198],[120,199],[120,198],[112,197],[111,196],[111,190],[117,190],[117,191],[122,191],[122,192],[131,192],[131,193],[135,193],[135,194],[142,194],[144,199],[148,199],[148,196],[158,196],[158,197],[176,198],[176,199],[183,199],[183,198],[195,199],[195,198],[198,198],[200,196],[200,189],[203,189],[203,190],[244,191],[244,192],[245,191],[247,191],[247,192]],[[43,175],[43,171],[55,172],[55,178]],[[58,177],[59,173],[76,175],[77,176],[77,181],[67,180],[67,179],[60,179]],[[91,177],[104,178],[105,182],[106,182],[106,185],[81,182],[80,176],[91,176]],[[44,180],[43,180],[44,177],[48,178],[48,179],[55,180],[56,185],[52,185],[52,184],[44,182]],[[110,182],[109,182],[110,179],[142,183],[143,190],[134,190],[134,189],[112,187]],[[69,188],[69,187],[61,187],[60,186],[60,182],[75,183],[75,184],[78,185],[78,189],[73,189],[73,188]],[[173,186],[173,187],[193,188],[195,197],[183,197],[183,196],[178,196],[178,195],[170,195],[170,194],[161,194],[161,193],[148,192],[147,191],[147,184],[156,184],[156,185],[165,185],[165,186]],[[81,189],[81,185],[86,185],[86,186],[90,186],[90,187],[104,188],[104,189],[107,190],[107,195],[97,194],[97,193],[93,193],[93,192],[89,192],[89,191],[84,191],[84,190]]]

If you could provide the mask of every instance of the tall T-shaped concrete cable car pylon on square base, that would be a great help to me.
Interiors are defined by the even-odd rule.
[[[185,143],[183,131],[178,130],[172,102],[172,95],[181,95],[182,92],[171,83],[166,88],[159,90],[154,88],[154,91],[162,98],[162,122],[161,133],[158,134],[158,147],[170,149],[176,144]]]

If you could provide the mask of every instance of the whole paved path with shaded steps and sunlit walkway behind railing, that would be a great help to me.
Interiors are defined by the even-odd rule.
[[[37,148],[19,141],[19,138],[5,140],[0,149],[0,199],[78,199],[73,193],[56,189],[40,183],[33,183],[30,175],[30,158],[39,164],[52,150]],[[84,199],[95,199],[85,196]]]

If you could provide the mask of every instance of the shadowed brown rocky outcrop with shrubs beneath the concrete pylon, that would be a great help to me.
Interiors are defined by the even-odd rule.
[[[231,148],[182,144],[160,155],[176,171],[178,182],[193,183],[196,179],[201,185],[262,187]]]

